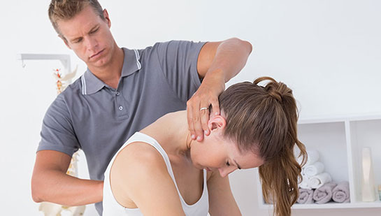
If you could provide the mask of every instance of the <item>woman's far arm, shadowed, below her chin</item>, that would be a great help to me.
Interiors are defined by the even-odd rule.
[[[229,176],[221,177],[214,171],[208,179],[210,215],[242,215],[231,193]]]

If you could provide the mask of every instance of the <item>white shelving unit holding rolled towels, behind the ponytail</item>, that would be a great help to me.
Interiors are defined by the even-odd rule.
[[[307,149],[319,152],[319,161],[324,170],[331,174],[334,182],[350,182],[350,203],[329,202],[325,204],[299,204],[294,209],[317,208],[381,208],[376,193],[381,184],[381,113],[342,117],[311,118],[299,120],[299,140]],[[361,201],[361,149],[371,147],[375,177],[375,202]],[[260,208],[272,208],[264,203],[258,178]]]

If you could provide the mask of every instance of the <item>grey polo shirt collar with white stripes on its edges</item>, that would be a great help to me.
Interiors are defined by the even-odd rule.
[[[121,78],[131,75],[141,69],[140,55],[138,50],[129,50],[122,48],[124,52],[123,67]],[[102,80],[99,80],[88,68],[81,77],[82,94],[94,94],[106,86]]]

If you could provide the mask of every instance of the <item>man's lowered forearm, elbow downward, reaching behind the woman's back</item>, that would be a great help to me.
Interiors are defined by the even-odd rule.
[[[60,171],[45,171],[34,176],[31,187],[36,202],[82,206],[103,199],[103,181],[83,180]]]

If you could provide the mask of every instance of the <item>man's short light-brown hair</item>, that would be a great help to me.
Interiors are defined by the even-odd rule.
[[[59,36],[63,36],[58,29],[58,20],[70,20],[80,13],[86,6],[92,6],[96,14],[105,20],[103,9],[97,0],[52,0],[49,5],[48,13],[55,31]]]

